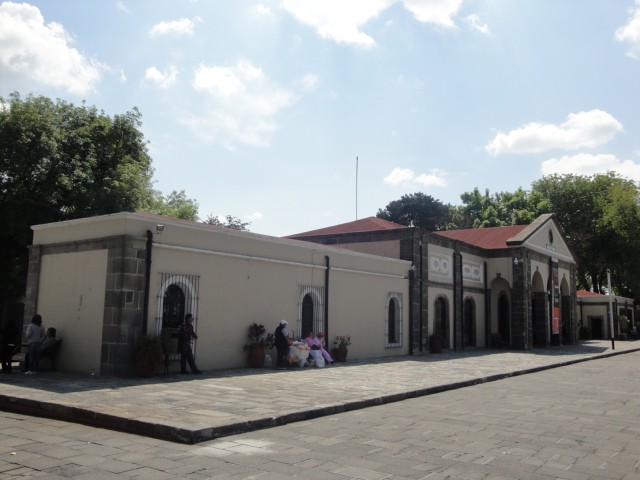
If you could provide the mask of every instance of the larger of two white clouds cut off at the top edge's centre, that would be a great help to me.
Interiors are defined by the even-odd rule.
[[[373,47],[375,40],[361,27],[395,0],[283,0],[282,8],[322,38]]]

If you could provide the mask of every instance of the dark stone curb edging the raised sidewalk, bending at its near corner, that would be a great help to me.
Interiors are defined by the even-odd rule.
[[[559,368],[576,363],[598,360],[601,358],[608,358],[615,355],[622,355],[625,353],[638,351],[640,351],[640,348],[612,351],[609,353],[603,353],[591,357],[561,361],[550,365],[541,365],[521,370],[514,370],[512,372],[489,375],[486,377],[473,378],[459,382],[452,382],[442,385],[435,385],[432,387],[419,388],[416,390],[409,390],[406,392],[383,395],[380,397],[338,403],[335,405],[311,407],[307,410],[287,412],[282,415],[253,418],[241,422],[194,430],[145,422],[143,420],[125,418],[116,415],[104,414],[95,412],[88,408],[80,408],[54,402],[43,402],[31,400],[29,398],[8,396],[2,394],[0,394],[0,409],[24,415],[47,417],[70,423],[80,423],[92,427],[117,430],[176,443],[195,444],[229,435],[262,430],[265,428],[273,428],[281,425],[286,425],[288,423],[311,420],[314,418],[335,415],[337,413],[359,410],[378,405],[384,405],[387,403],[400,402],[402,400],[423,397],[426,395],[433,395],[435,393],[441,393],[448,390],[456,390],[459,388],[470,387],[482,383],[495,382],[497,380],[503,380],[505,378],[526,375],[529,373],[536,373],[543,370],[550,370],[552,368]]]

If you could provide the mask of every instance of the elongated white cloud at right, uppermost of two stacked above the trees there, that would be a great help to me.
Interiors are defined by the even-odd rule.
[[[571,113],[559,125],[534,122],[498,133],[484,148],[491,155],[594,148],[609,142],[622,130],[622,124],[609,113],[590,110]]]

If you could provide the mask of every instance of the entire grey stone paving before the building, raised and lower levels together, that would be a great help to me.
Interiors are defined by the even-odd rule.
[[[3,376],[3,407],[94,412],[95,424],[126,418],[144,435],[0,413],[0,478],[640,479],[638,346],[453,352],[186,380]],[[147,435],[180,429],[212,438],[220,429],[221,438],[190,445]]]

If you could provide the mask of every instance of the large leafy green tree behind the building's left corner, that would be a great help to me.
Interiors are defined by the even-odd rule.
[[[0,98],[0,302],[23,294],[31,225],[134,211],[148,197],[140,119],[135,108],[109,117],[42,96]]]

